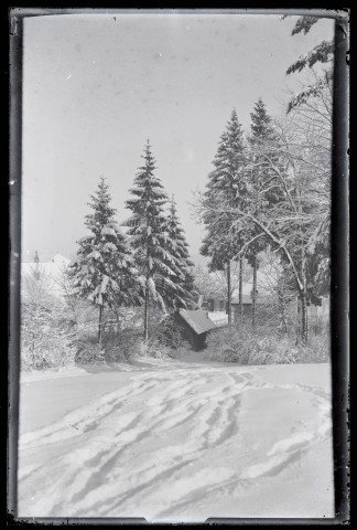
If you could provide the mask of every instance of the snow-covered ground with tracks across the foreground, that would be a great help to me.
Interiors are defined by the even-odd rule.
[[[23,374],[19,517],[334,517],[329,365]]]

